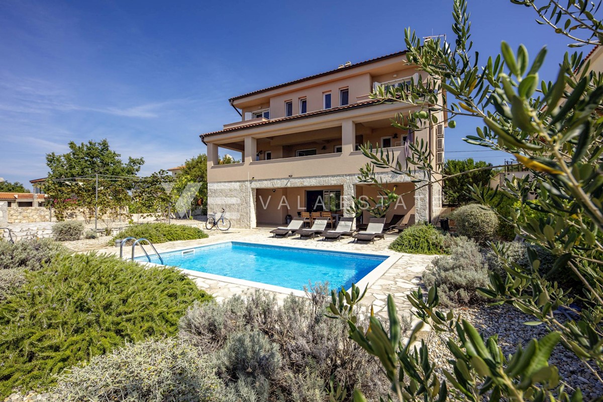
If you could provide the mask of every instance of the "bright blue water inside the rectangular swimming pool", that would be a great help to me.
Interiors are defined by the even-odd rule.
[[[330,288],[361,280],[387,257],[227,242],[161,253],[165,265],[303,290],[309,282]],[[136,260],[148,261],[147,257]],[[160,263],[156,256],[151,262]]]

